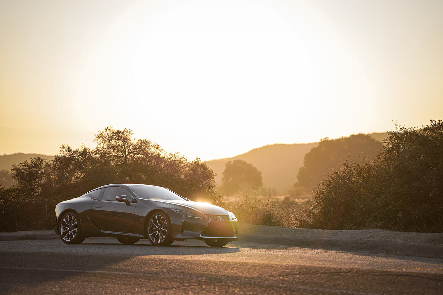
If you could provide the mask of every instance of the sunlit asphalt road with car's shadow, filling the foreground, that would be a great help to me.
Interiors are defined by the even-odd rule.
[[[439,294],[443,262],[202,241],[0,241],[0,294]]]

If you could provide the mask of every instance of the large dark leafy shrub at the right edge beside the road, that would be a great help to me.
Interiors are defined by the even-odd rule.
[[[443,121],[397,126],[365,164],[346,163],[314,193],[309,227],[442,232]]]

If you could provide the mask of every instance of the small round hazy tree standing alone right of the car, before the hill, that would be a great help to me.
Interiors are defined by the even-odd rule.
[[[239,189],[258,189],[262,186],[261,172],[242,160],[229,161],[221,179],[221,192],[230,194]]]

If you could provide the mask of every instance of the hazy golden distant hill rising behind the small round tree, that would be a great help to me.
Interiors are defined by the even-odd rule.
[[[380,142],[388,137],[387,132],[368,135]],[[273,144],[252,149],[235,157],[210,160],[203,163],[217,174],[215,181],[220,186],[222,173],[227,162],[233,160],[246,161],[262,173],[264,187],[276,188],[277,191],[283,193],[288,188],[292,188],[297,181],[297,173],[300,167],[303,166],[304,156],[318,145],[319,142]]]

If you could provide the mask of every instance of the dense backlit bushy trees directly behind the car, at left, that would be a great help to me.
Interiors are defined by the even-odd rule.
[[[221,202],[215,174],[200,159],[188,161],[132,135],[106,127],[95,135],[94,149],[62,145],[54,160],[13,165],[16,183],[0,186],[0,231],[51,229],[55,204],[112,183],[159,185],[189,199]]]

